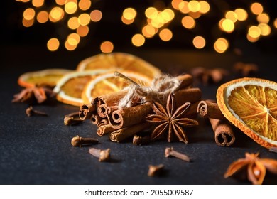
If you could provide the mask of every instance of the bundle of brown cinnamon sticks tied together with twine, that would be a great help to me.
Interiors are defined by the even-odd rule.
[[[199,104],[202,92],[199,88],[192,87],[192,76],[185,74],[178,77],[180,85],[174,95],[176,105],[180,106],[185,102],[191,103],[188,116],[197,117],[197,105]],[[166,90],[166,88],[164,88]],[[90,119],[92,124],[97,126],[99,136],[109,135],[112,141],[124,141],[141,131],[148,130],[151,124],[146,122],[148,114],[152,114],[152,102],[136,102],[131,107],[119,108],[119,101],[126,96],[127,90],[112,92],[92,99],[90,104],[80,107],[79,117],[82,120]],[[166,104],[166,97],[160,99],[161,104]]]

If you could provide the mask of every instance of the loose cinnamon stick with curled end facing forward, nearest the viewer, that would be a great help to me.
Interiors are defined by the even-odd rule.
[[[210,118],[212,129],[214,130],[214,139],[219,146],[231,146],[234,144],[235,137],[231,125],[227,120]]]

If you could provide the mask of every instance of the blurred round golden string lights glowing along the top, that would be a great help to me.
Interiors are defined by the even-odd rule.
[[[81,39],[88,36],[89,28],[102,20],[102,11],[94,9],[95,0],[55,0],[53,4],[46,5],[44,0],[16,0],[23,3],[31,3],[23,11],[22,24],[31,27],[35,23],[66,23],[66,28],[72,31],[65,41],[61,38],[50,38],[47,43],[48,50],[55,51],[64,43],[67,50],[75,50]],[[95,1],[96,2],[96,1]],[[162,3],[162,4],[161,4]],[[120,2],[119,2],[120,4]],[[157,6],[158,5],[158,6]],[[163,5],[163,6],[161,6]],[[244,22],[246,39],[254,43],[261,37],[269,36],[272,28],[277,28],[277,18],[271,19],[264,11],[264,6],[259,2],[249,3],[249,7],[224,10],[217,14],[217,24],[219,34],[217,38],[205,38],[202,31],[194,31],[200,26],[197,21],[208,15],[213,4],[209,1],[183,1],[172,0],[168,5],[164,1],[153,0],[152,5],[144,9],[143,17],[136,8],[126,7],[119,11],[121,23],[129,26],[135,22],[140,24],[138,33],[130,36],[130,42],[136,47],[143,46],[147,39],[158,37],[161,41],[168,42],[173,39],[173,26],[182,26],[183,29],[193,31],[192,45],[195,48],[205,48],[207,40],[214,40],[213,48],[217,53],[224,53],[229,48],[229,39],[226,35],[232,34],[235,30],[241,29],[239,23]],[[254,18],[254,20],[250,20]],[[139,21],[139,23],[138,23]],[[249,21],[249,22],[248,22]],[[211,23],[211,22],[210,22]],[[171,28],[170,28],[171,27]],[[99,46],[103,53],[111,53],[114,50],[112,41],[102,41]]]

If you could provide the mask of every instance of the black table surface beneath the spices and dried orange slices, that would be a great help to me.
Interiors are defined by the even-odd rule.
[[[276,53],[214,53],[187,50],[126,50],[161,68],[171,75],[190,72],[197,66],[225,68],[230,75],[224,81],[241,77],[232,67],[238,61],[259,66],[256,77],[276,81]],[[46,68],[75,69],[80,60],[96,53],[89,50],[50,53],[41,48],[6,46],[1,49],[1,114],[0,114],[0,184],[250,184],[237,178],[224,178],[230,163],[244,158],[246,152],[261,158],[277,158],[277,154],[256,144],[234,128],[236,141],[232,146],[217,146],[209,122],[199,119],[198,127],[188,129],[188,144],[153,141],[136,146],[131,141],[116,143],[109,136],[99,137],[89,121],[77,126],[65,126],[65,114],[79,108],[56,102],[36,105],[48,117],[27,117],[27,104],[11,103],[21,91],[17,84],[23,72]],[[201,85],[202,99],[215,99],[218,85]],[[89,155],[87,147],[73,147],[73,136],[99,139],[98,149],[111,149],[112,161],[99,162]],[[177,158],[165,158],[165,147],[190,156],[190,163]],[[148,177],[148,166],[163,163],[165,172]],[[266,174],[264,184],[276,184],[277,176]]]

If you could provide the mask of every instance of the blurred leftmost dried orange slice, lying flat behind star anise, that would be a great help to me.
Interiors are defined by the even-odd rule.
[[[25,72],[18,77],[18,85],[22,87],[33,87],[33,86],[48,86],[55,87],[58,80],[63,75],[72,72],[74,70],[67,70],[61,68],[37,70],[32,72]]]

